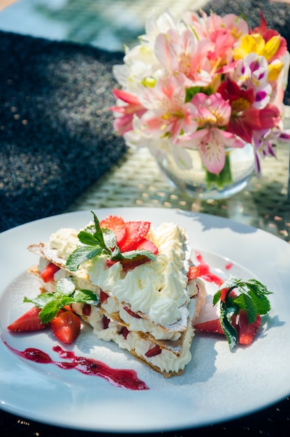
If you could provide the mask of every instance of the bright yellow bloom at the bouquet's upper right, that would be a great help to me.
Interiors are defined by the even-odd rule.
[[[259,56],[265,57],[267,61],[270,61],[279,47],[280,35],[273,36],[267,43],[260,34],[244,35],[240,38],[240,46],[233,51],[233,58],[237,61],[238,59],[244,58],[247,54],[254,52]],[[277,59],[273,63],[268,64],[269,80],[277,80],[283,65],[283,62]]]

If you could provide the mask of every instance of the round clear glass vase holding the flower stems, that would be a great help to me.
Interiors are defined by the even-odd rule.
[[[198,149],[189,149],[192,168],[180,168],[173,154],[155,154],[161,173],[171,186],[192,198],[225,199],[244,189],[254,175],[254,150],[245,143],[241,149],[226,149],[226,163],[219,175],[208,172],[201,161]]]

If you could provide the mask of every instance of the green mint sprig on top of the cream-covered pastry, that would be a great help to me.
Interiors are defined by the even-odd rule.
[[[148,260],[156,260],[156,255],[150,251],[128,251],[123,252],[117,246],[115,232],[110,229],[101,228],[99,219],[92,212],[94,217],[94,226],[89,225],[85,230],[78,233],[78,239],[82,246],[75,249],[66,260],[66,267],[71,272],[76,272],[82,262],[88,261],[99,255],[108,255],[112,261],[121,261],[124,259],[133,260],[138,256],[145,256]]]

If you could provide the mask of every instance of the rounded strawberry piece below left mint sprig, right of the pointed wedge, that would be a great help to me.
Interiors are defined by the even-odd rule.
[[[61,343],[70,344],[80,333],[80,318],[72,311],[59,311],[50,322],[52,332]]]

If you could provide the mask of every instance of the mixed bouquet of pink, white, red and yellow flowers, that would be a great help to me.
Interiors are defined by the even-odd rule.
[[[170,154],[181,171],[194,167],[189,151],[198,151],[208,186],[218,188],[231,183],[231,150],[250,145],[259,176],[261,158],[290,139],[282,130],[286,40],[262,13],[249,29],[233,14],[187,10],[181,20],[166,11],[150,15],[145,31],[113,68],[115,131],[159,162]]]

